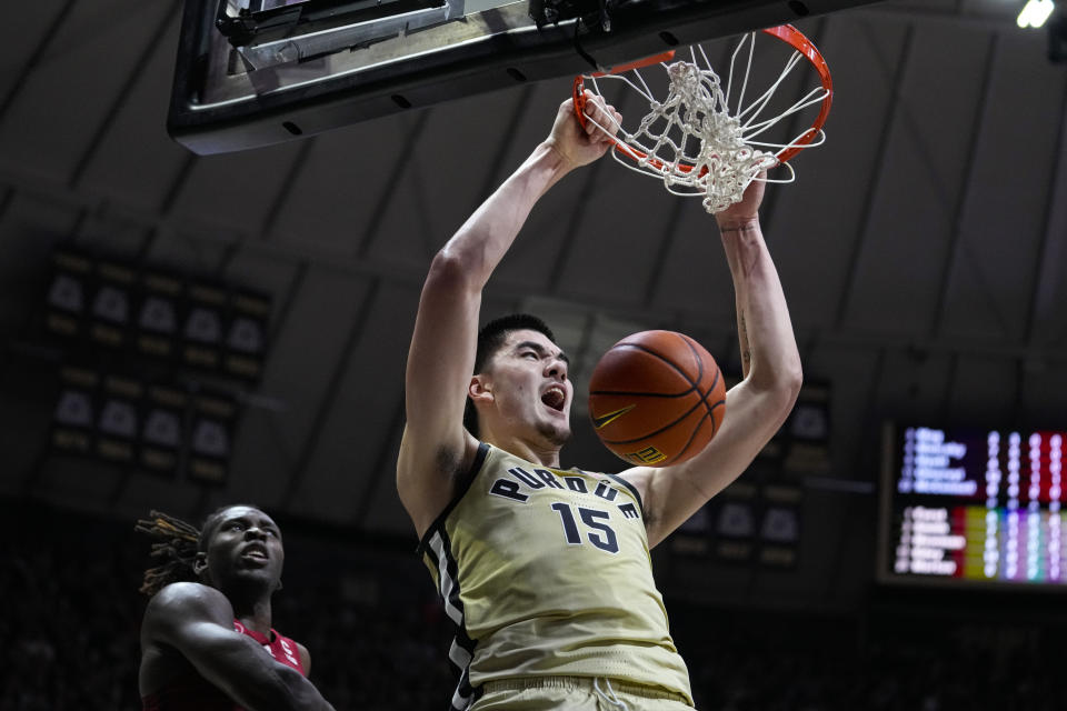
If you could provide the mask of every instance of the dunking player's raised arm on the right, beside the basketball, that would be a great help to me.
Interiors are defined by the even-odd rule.
[[[649,545],[664,540],[751,463],[785,422],[800,390],[800,354],[758,209],[764,182],[716,214],[734,278],[744,380],[730,389],[715,439],[692,459],[625,473],[642,491]]]

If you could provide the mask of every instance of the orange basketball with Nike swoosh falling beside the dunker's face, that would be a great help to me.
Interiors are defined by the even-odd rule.
[[[628,336],[589,379],[592,427],[630,464],[667,467],[695,457],[719,431],[725,412],[718,363],[675,331]]]

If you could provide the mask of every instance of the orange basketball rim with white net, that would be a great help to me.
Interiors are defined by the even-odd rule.
[[[585,113],[589,100],[585,91],[590,88],[586,86],[587,81],[594,96],[602,100],[606,98],[598,80],[614,79],[636,90],[649,102],[651,110],[632,131],[610,118],[611,124],[607,127],[594,121],[615,137],[612,156],[627,168],[662,180],[674,194],[702,197],[705,209],[711,213],[740,202],[745,189],[754,180],[792,182],[796,173],[788,161],[805,148],[820,146],[826,140],[822,124],[830,111],[834,84],[819,50],[791,24],[768,28],[760,33],[781,40],[794,51],[778,78],[748,104],[745,103],[745,93],[752,72],[757,32],[741,36],[734,49],[725,89],[699,44],[689,50],[691,61],[671,61],[675,52],[670,51],[607,72],[578,76],[574,86],[578,120],[582,127],[592,121]],[[745,69],[737,88],[734,74],[739,57]],[[771,107],[776,91],[805,59],[818,73],[820,86],[791,104],[777,109],[774,116],[764,116]],[[639,71],[654,64],[666,71],[666,98],[662,101],[656,98]],[[815,104],[820,104],[818,114],[799,136],[782,142],[775,142],[766,136],[784,119]],[[777,166],[786,168],[788,174],[774,179],[760,177]]]

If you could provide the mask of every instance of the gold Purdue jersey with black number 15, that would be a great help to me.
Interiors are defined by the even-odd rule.
[[[482,443],[419,552],[457,627],[455,709],[489,681],[557,675],[621,679],[692,702],[641,500],[621,478]]]

